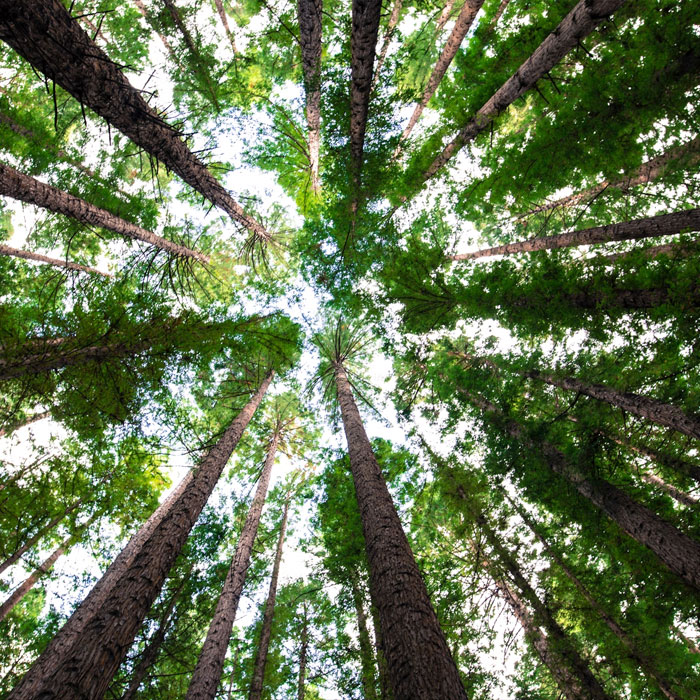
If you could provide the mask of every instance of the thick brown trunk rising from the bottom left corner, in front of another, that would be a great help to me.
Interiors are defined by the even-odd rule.
[[[110,578],[109,590],[99,596],[99,607],[94,612],[91,610],[89,618],[77,625],[82,627],[79,636],[66,639],[63,652],[54,653],[48,662],[53,666],[52,671],[39,671],[34,683],[28,682],[25,676],[8,699],[102,698],[271,381],[272,373],[269,373],[204,457],[187,488],[124,566],[123,574],[118,579]],[[34,679],[32,676],[32,681]]]

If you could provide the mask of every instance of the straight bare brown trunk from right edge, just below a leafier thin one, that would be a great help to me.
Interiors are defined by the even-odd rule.
[[[507,243],[493,248],[475,250],[472,253],[450,255],[448,258],[450,260],[474,260],[476,258],[489,258],[493,255],[532,253],[536,250],[569,248],[612,241],[635,241],[643,238],[670,236],[686,230],[697,231],[698,229],[700,229],[700,209],[687,209],[673,214],[660,214],[645,219],[623,221],[619,224],[569,231],[555,236],[531,238],[518,243]]]

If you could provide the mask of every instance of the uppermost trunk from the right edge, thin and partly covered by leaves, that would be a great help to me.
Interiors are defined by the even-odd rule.
[[[603,180],[593,187],[589,187],[576,194],[569,195],[568,197],[562,197],[554,202],[547,202],[546,204],[541,204],[538,207],[530,209],[522,216],[518,217],[520,219],[526,219],[534,214],[539,214],[543,211],[550,211],[552,209],[559,209],[561,207],[571,207],[579,202],[585,200],[595,199],[598,195],[602,194],[606,190],[620,190],[621,192],[627,192],[632,189],[632,187],[638,187],[639,185],[645,185],[648,182],[653,182],[658,177],[661,177],[668,167],[672,165],[675,161],[684,159],[688,156],[685,161],[686,167],[695,165],[700,161],[700,138],[693,139],[688,143],[684,143],[680,146],[670,148],[665,153],[658,155],[648,161],[642,163],[636,170],[634,170],[627,177],[621,178],[610,182],[609,180]]]

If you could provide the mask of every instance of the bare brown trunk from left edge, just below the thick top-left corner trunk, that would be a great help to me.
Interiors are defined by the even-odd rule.
[[[63,214],[86,226],[97,226],[98,228],[104,228],[108,231],[114,231],[114,233],[118,233],[125,238],[143,241],[144,243],[165,250],[179,258],[192,258],[202,263],[209,262],[209,256],[203,253],[198,253],[185,246],[177,245],[162,236],[156,236],[155,233],[151,233],[136,224],[125,221],[115,214],[108,212],[106,209],[100,209],[86,202],[84,199],[75,197],[68,192],[63,192],[51,185],[46,185],[29,175],[20,173],[4,163],[0,163],[0,194],[12,197],[21,202],[26,202],[27,204],[33,204],[34,206],[47,209],[57,214]],[[9,252],[5,252],[5,255],[10,254]],[[28,257],[28,254],[25,254],[24,257]],[[44,258],[43,262],[57,264],[53,262],[51,258]],[[74,265],[75,269],[93,272],[92,269],[82,265],[75,265],[75,263],[65,264],[66,267],[68,265]]]

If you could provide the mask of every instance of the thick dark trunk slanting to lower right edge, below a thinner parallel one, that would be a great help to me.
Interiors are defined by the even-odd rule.
[[[491,402],[465,389],[458,388],[458,391],[508,435],[540,454],[554,473],[567,479],[584,498],[617,523],[623,532],[654,552],[671,572],[700,590],[700,543],[613,484],[601,478],[587,479],[563,452],[544,440],[535,443],[522,425],[505,418]]]

